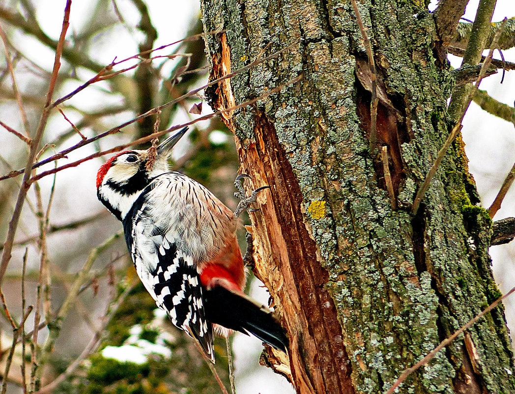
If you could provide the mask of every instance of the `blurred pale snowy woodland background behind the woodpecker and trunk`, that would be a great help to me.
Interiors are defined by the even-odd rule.
[[[26,124],[32,132],[44,105],[64,4],[64,0],[11,0],[0,5],[0,25],[5,31],[17,89],[26,111]],[[474,19],[477,4],[478,0],[469,2],[465,18]],[[202,32],[199,7],[197,0],[74,2],[54,98],[72,92],[115,58],[119,61],[199,34]],[[436,2],[433,2],[430,9],[435,7]],[[513,16],[515,5],[512,0],[498,0],[494,21]],[[5,54],[0,53],[0,121],[24,134],[24,117],[13,94]],[[91,138],[207,83],[209,70],[202,39],[171,45],[155,55],[165,57],[147,63],[140,63],[139,59],[124,62],[115,71],[135,67],[95,83],[60,104],[62,113],[54,110],[45,129],[43,143],[48,145],[40,158],[80,142],[82,136],[76,129],[85,138]],[[499,54],[494,57],[499,58]],[[504,51],[504,57],[515,61],[515,50]],[[458,68],[461,58],[452,55],[449,58],[453,67]],[[482,89],[496,100],[513,106],[515,71],[506,73],[502,85],[501,74],[486,78]],[[202,114],[210,113],[201,93],[164,109],[160,114],[160,129],[197,118],[198,114],[191,113],[194,105]],[[71,152],[67,158],[60,159],[58,165],[148,135],[155,121],[153,116],[133,123],[123,128],[122,133]],[[515,162],[513,124],[491,116],[472,103],[464,121],[463,138],[470,170],[483,206],[488,208]],[[23,168],[27,152],[23,141],[5,128],[0,129],[0,175]],[[86,161],[59,172],[55,178],[42,178],[38,182],[39,189],[33,188],[28,193],[16,233],[12,259],[2,286],[12,317],[19,322],[22,316],[21,282],[25,254],[26,305],[37,300],[43,255],[42,319],[54,320],[63,315],[62,322],[53,326],[52,333],[45,328],[38,337],[45,360],[42,386],[54,381],[81,355],[105,322],[108,325],[104,339],[94,351],[83,355],[84,361],[63,380],[56,392],[219,392],[191,341],[171,326],[156,310],[143,287],[138,285],[123,237],[113,237],[119,235],[121,224],[98,202],[95,190],[96,172],[105,159]],[[232,184],[238,170],[237,156],[232,136],[217,118],[191,127],[188,138],[177,145],[173,159],[176,169],[197,179],[231,209],[235,208]],[[54,165],[49,163],[36,172],[53,169]],[[2,240],[20,182],[21,177],[0,182]],[[515,190],[512,189],[494,219],[515,217],[514,202]],[[39,228],[46,222],[48,231],[42,242]],[[244,231],[242,248],[243,236]],[[92,251],[96,254],[91,254]],[[515,247],[513,243],[495,246],[490,253],[497,283],[506,292],[515,286]],[[84,268],[89,262],[92,262],[91,268]],[[70,297],[73,285],[78,283],[78,272],[81,273],[78,294]],[[251,296],[267,303],[268,294],[259,282],[251,277],[249,282]],[[108,309],[113,302],[119,306],[116,313],[112,308]],[[69,310],[64,310],[63,304],[69,305]],[[505,305],[511,332],[515,332],[515,300],[508,298]],[[4,310],[1,312],[5,315]],[[32,313],[27,320],[27,332],[32,330],[33,316]],[[110,316],[110,320],[106,321],[105,316]],[[12,341],[12,328],[4,317],[0,318],[0,373],[5,369]],[[225,341],[218,341],[216,345],[216,367],[228,385]],[[283,377],[259,365],[262,349],[259,340],[236,334],[232,346],[238,394],[294,392]],[[23,392],[19,385],[21,352],[20,347],[16,347],[9,374],[14,383],[7,387],[10,393]],[[25,359],[28,379],[31,369],[29,347]]]

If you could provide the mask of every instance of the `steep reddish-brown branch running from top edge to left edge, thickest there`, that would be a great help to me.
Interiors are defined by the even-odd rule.
[[[57,74],[59,72],[59,68],[61,65],[60,58],[62,53],[62,48],[64,45],[64,37],[66,36],[66,30],[68,29],[68,26],[70,25],[70,8],[72,5],[71,0],[66,1],[66,7],[64,9],[64,18],[63,18],[63,25],[61,29],[61,35],[59,37],[59,42],[57,44],[57,50],[56,50],[56,57],[54,61],[54,69],[52,71],[52,78],[50,79],[50,83],[48,85],[48,91],[46,94],[46,104],[43,108],[43,112],[41,114],[40,122],[38,125],[38,128],[36,130],[36,135],[32,139],[32,142],[30,144],[30,152],[27,158],[27,165],[25,167],[24,175],[23,175],[23,181],[22,181],[22,187],[20,188],[20,191],[18,193],[18,199],[16,200],[16,205],[14,206],[14,212],[12,214],[11,221],[9,222],[9,229],[7,232],[6,240],[4,242],[4,250],[2,253],[2,259],[0,260],[0,288],[2,286],[2,280],[5,274],[5,271],[7,270],[7,265],[9,264],[9,261],[11,259],[11,250],[12,250],[12,243],[14,240],[14,236],[16,234],[16,229],[18,228],[18,222],[20,220],[20,216],[22,213],[22,208],[25,202],[25,196],[27,195],[28,189],[30,188],[30,173],[32,170],[32,165],[34,163],[34,160],[36,158],[36,153],[38,152],[38,145],[41,141],[41,138],[43,137],[43,131],[46,126],[46,122],[48,120],[48,116],[50,114],[50,104],[52,103],[52,95],[54,93],[55,84],[57,80]]]

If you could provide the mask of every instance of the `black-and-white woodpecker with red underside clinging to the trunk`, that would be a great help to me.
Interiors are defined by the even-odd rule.
[[[123,223],[134,267],[171,322],[195,338],[214,363],[213,333],[253,334],[286,352],[282,327],[244,294],[246,270],[236,240],[238,215],[255,202],[239,180],[242,201],[232,212],[195,180],[168,169],[184,127],[156,150],[118,153],[98,170],[97,196]],[[150,162],[149,162],[150,161]]]

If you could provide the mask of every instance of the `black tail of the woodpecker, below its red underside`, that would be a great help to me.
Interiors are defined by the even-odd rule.
[[[273,348],[286,352],[288,338],[268,309],[221,286],[203,294],[208,321],[247,335],[250,333]]]

